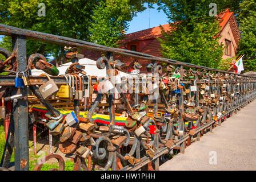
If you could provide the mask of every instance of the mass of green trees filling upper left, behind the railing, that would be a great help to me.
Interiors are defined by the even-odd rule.
[[[149,0],[149,2],[152,0]],[[120,0],[0,0],[0,22],[69,38],[116,46],[128,23],[145,7],[139,1]],[[38,16],[39,3],[44,3],[46,16]],[[11,50],[11,38],[5,37],[2,47]],[[27,40],[27,56],[42,53],[63,61],[63,46]]]

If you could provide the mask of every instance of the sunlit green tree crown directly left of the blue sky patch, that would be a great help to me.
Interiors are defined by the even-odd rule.
[[[93,10],[93,23],[89,28],[91,40],[103,46],[118,47],[129,27],[129,22],[146,9],[145,0],[106,0],[100,1]],[[154,2],[154,1],[148,1]]]

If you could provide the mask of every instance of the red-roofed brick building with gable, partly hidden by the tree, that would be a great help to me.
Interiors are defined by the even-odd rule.
[[[241,34],[234,13],[230,12],[229,9],[219,14],[218,17],[221,31],[217,36],[221,36],[219,43],[225,46],[222,57],[223,59],[227,59],[237,55],[237,47],[239,39],[241,39]],[[169,24],[164,24],[162,27],[165,31],[170,30]],[[121,41],[119,48],[162,57],[161,42],[157,38],[163,38],[159,26],[125,35],[125,39]],[[93,60],[101,57],[101,52],[82,50],[82,53],[85,57]],[[115,59],[119,59],[127,65],[133,61],[132,58],[125,56],[115,56]],[[140,63],[142,63],[144,68],[142,71],[145,71],[145,65],[150,63],[150,61],[140,61]]]

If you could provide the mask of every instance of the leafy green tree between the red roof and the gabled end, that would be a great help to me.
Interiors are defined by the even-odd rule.
[[[162,0],[160,8],[170,22],[170,31],[164,31],[162,55],[170,59],[218,68],[223,47],[215,38],[220,31],[218,20],[209,16],[210,0]],[[176,23],[172,23],[176,22]],[[175,31],[173,31],[175,30]]]

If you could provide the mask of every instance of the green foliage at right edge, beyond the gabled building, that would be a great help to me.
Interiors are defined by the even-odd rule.
[[[242,39],[239,42],[238,55],[243,57],[245,72],[256,71],[256,1],[245,0],[240,3],[239,29]]]

